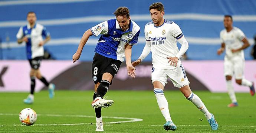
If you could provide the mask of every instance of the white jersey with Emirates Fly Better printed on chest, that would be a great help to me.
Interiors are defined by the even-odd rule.
[[[154,68],[171,70],[175,66],[168,63],[167,57],[175,57],[179,52],[177,39],[183,36],[180,27],[173,21],[164,20],[158,27],[151,21],[145,25],[145,38],[150,41],[152,52],[152,64]],[[177,67],[180,66],[180,59]]]

